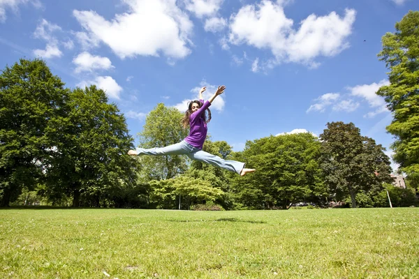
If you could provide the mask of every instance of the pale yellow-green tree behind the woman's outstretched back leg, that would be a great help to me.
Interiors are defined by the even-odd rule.
[[[149,112],[140,135],[142,148],[163,147],[184,140],[189,131],[180,123],[182,113],[162,103]],[[188,168],[186,156],[142,156],[142,179],[171,179]]]

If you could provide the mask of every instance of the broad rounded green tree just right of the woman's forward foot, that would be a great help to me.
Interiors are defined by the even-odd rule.
[[[248,141],[235,153],[257,171],[233,181],[238,202],[248,208],[286,207],[291,202],[324,202],[328,190],[318,165],[320,143],[310,133],[263,137]]]

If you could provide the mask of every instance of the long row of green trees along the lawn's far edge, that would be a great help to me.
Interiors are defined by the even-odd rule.
[[[47,204],[147,209],[286,209],[295,202],[327,206],[414,204],[414,190],[394,190],[385,149],[353,123],[310,133],[264,137],[233,152],[207,140],[204,150],[241,160],[247,176],[186,156],[127,155],[126,119],[96,86],[68,89],[44,61],[21,59],[0,75],[1,206]],[[146,148],[180,142],[182,113],[157,105],[140,133]],[[385,187],[387,189],[385,189]]]

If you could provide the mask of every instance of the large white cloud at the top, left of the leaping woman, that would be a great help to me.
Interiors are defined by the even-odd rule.
[[[191,50],[189,36],[193,24],[175,0],[123,0],[128,12],[111,21],[94,11],[74,10],[73,15],[86,30],[84,39],[100,40],[124,59],[136,55],[183,58]]]

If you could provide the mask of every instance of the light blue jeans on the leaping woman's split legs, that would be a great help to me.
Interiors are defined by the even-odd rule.
[[[137,148],[137,155],[152,155],[152,156],[163,156],[163,155],[186,155],[192,160],[198,160],[216,167],[227,169],[230,172],[237,172],[240,174],[244,167],[244,163],[237,162],[234,160],[224,160],[219,156],[212,155],[208,152],[202,151],[201,149],[192,146],[188,142],[182,140],[178,144],[172,144],[165,147],[154,147],[152,149]]]

